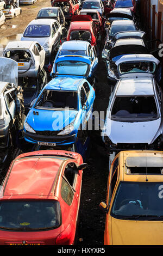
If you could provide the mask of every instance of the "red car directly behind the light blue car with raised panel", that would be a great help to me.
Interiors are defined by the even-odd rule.
[[[73,17],[67,34],[67,41],[88,41],[92,46],[97,45],[98,32],[90,15],[77,15]]]

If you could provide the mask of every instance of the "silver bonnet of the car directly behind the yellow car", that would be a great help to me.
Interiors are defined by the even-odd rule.
[[[151,144],[161,134],[161,118],[153,121],[126,123],[114,121],[110,118],[106,121],[108,127],[105,131],[113,144],[117,143],[148,143]]]

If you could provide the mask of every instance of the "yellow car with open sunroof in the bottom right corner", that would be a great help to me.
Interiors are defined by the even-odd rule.
[[[163,245],[163,151],[121,151],[111,163],[104,245]]]

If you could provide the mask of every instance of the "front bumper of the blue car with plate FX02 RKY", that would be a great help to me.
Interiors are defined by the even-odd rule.
[[[37,135],[36,133],[30,133],[24,131],[24,139],[27,142],[37,144],[38,142],[56,143],[56,145],[67,145],[76,142],[77,134],[65,135],[65,136],[45,136]]]

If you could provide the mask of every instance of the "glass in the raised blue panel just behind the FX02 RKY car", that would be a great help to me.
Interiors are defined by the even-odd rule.
[[[85,76],[88,64],[77,60],[65,60],[57,63],[57,75]]]

